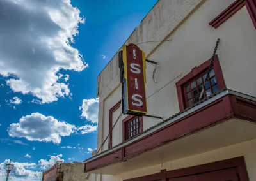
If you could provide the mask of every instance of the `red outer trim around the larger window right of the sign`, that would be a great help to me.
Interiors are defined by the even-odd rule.
[[[200,75],[200,73],[207,70],[207,68],[209,67],[210,64],[211,64],[211,59],[204,62],[200,66],[195,66],[195,68],[191,69],[191,72],[189,72],[187,75],[185,75],[183,78],[181,78],[176,83],[180,111],[182,111],[186,108],[186,99],[185,99],[185,95],[184,95],[184,91],[183,91],[182,87],[187,82],[189,82],[189,80],[195,78],[196,76]],[[216,75],[216,80],[218,83],[219,90],[226,88],[225,81],[224,81],[223,74],[222,74],[221,67],[220,67],[220,62],[218,59],[218,55],[216,55],[214,57],[213,69],[214,69],[214,72]]]

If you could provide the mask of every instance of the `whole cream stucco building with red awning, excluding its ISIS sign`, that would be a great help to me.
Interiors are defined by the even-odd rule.
[[[256,1],[160,0],[129,43],[157,62],[147,62],[145,85],[156,117],[116,122],[117,52],[98,77],[100,150],[84,161],[89,180],[256,180]]]

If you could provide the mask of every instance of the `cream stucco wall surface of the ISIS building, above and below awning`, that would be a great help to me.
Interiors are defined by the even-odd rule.
[[[147,62],[146,94],[147,98],[150,96],[147,99],[148,114],[167,119],[180,112],[175,83],[191,72],[195,66],[200,66],[211,59],[218,38],[220,38],[220,45],[217,54],[226,88],[253,98],[256,97],[254,83],[256,30],[246,6],[243,6],[217,29],[209,25],[211,20],[233,2],[234,0],[160,0],[131,34],[125,45],[168,40],[139,45],[145,52],[146,59],[157,62],[155,82],[152,78],[155,65]],[[98,148],[109,134],[109,110],[122,99],[121,88],[118,54],[116,54],[98,78]],[[122,106],[113,112],[112,125],[121,112]],[[113,129],[113,147],[123,141],[122,120],[125,117],[127,115],[122,115]],[[161,121],[161,119],[143,117],[143,130]],[[239,156],[244,157],[249,179],[256,180],[255,149],[256,140],[246,140],[172,161],[164,160],[163,163],[154,166],[144,166],[133,171],[124,170],[124,173],[117,175],[98,174],[90,177],[90,180],[125,180],[158,173],[163,169],[176,170]],[[100,152],[104,150],[108,150],[108,141]]]

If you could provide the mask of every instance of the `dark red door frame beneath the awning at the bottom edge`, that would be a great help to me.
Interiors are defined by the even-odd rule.
[[[136,180],[146,181],[146,180],[149,180],[148,178],[154,178],[154,180],[166,180],[168,178],[184,177],[186,175],[196,175],[196,174],[210,172],[210,171],[223,170],[227,168],[236,168],[236,171],[239,175],[240,180],[249,181],[243,156],[232,158],[232,159],[225,159],[222,161],[216,161],[213,163],[191,166],[188,168],[181,168],[177,170],[170,170],[170,171],[161,170],[161,172],[159,173],[146,175],[138,178],[131,178],[124,181],[136,181]]]

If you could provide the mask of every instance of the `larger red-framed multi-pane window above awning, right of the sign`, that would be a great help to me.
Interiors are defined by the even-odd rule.
[[[210,64],[211,59],[200,66],[193,68],[188,75],[184,76],[176,83],[180,111],[188,106],[193,106],[199,101]],[[218,55],[216,55],[213,62],[213,68],[210,71],[210,78],[205,83],[202,99],[225,87],[226,85],[221,72],[220,62],[218,61]]]

